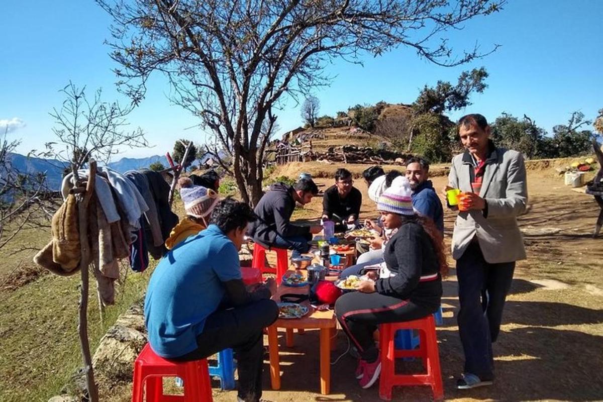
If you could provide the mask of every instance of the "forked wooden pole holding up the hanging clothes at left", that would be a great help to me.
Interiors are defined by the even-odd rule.
[[[89,262],[90,249],[88,244],[88,203],[94,192],[94,180],[96,176],[96,161],[90,161],[90,172],[88,174],[88,183],[84,194],[75,195],[78,201],[78,218],[80,229],[80,306],[78,319],[78,333],[80,335],[81,354],[84,361],[84,374],[86,374],[86,388],[88,389],[88,400],[98,402],[98,389],[94,381],[94,371],[92,369],[92,356],[90,355],[90,343],[88,341],[88,292],[89,292]],[[77,169],[74,168],[75,185],[79,183]]]

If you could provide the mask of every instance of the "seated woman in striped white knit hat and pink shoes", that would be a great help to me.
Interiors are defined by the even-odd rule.
[[[387,229],[397,229],[384,250],[381,274],[359,283],[357,292],[339,297],[335,314],[360,354],[356,378],[372,386],[381,371],[373,332],[378,324],[410,321],[440,307],[441,278],[447,274],[440,231],[429,218],[412,209],[412,190],[403,180],[379,197],[377,209]]]

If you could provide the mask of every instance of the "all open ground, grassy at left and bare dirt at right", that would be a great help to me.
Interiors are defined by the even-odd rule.
[[[505,309],[503,333],[494,346],[497,380],[491,388],[460,392],[453,387],[453,377],[459,374],[463,363],[456,328],[458,298],[453,269],[444,283],[444,325],[438,327],[438,341],[447,400],[582,402],[602,399],[603,277],[600,273],[603,238],[590,237],[598,207],[591,196],[563,186],[563,179],[551,166],[564,165],[565,161],[547,163],[548,168],[540,166],[545,170],[530,169],[528,172],[529,213],[522,216],[520,225],[529,229],[525,235],[529,257],[517,266]],[[366,168],[365,165],[349,166],[357,174]],[[280,172],[274,174],[297,177],[300,172],[309,171],[319,177],[319,184],[328,186],[333,182],[335,168],[314,163],[290,165],[279,168]],[[445,182],[445,177],[434,178],[438,189]],[[355,185],[365,194],[362,180],[356,180]],[[175,209],[182,213],[178,200]],[[315,198],[305,208],[296,209],[294,216],[317,219],[321,209],[321,199]],[[374,205],[366,199],[361,215],[375,215]],[[453,219],[453,213],[446,212],[448,243]],[[1,250],[0,283],[21,260],[24,261],[21,268],[28,272],[25,263],[29,263],[31,256],[14,254],[15,250],[22,245],[41,247],[48,239],[48,233],[40,231],[20,237],[18,247]],[[14,277],[21,277],[18,272],[13,272]],[[128,274],[125,286],[119,288],[118,303],[107,309],[103,324],[99,322],[96,302],[91,300],[92,348],[116,316],[140,298],[149,277],[150,269],[143,274]],[[0,289],[1,401],[45,401],[57,394],[69,375],[80,366],[76,330],[78,282],[77,276],[41,275],[31,281],[24,280],[21,286]],[[283,338],[280,341],[284,345]],[[317,394],[317,345],[317,331],[306,331],[303,336],[295,336],[294,348],[282,346],[282,391],[266,391],[264,397],[279,402],[379,400],[375,388],[358,388],[352,377],[355,361],[349,356],[344,356],[332,367],[332,394],[324,397]],[[332,360],[346,349],[346,338],[339,334]],[[270,390],[268,377],[266,370],[266,390]],[[430,395],[426,388],[394,390],[396,401],[429,400]],[[125,402],[130,398],[129,386],[121,385],[113,389],[111,395],[102,395],[101,400]],[[233,392],[214,389],[216,402],[234,398]]]

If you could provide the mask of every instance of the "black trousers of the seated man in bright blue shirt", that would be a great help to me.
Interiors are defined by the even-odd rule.
[[[218,310],[207,317],[203,333],[197,336],[197,350],[174,360],[204,359],[226,348],[232,348],[239,373],[238,396],[245,402],[262,397],[265,327],[279,316],[272,300],[259,300],[242,307]]]

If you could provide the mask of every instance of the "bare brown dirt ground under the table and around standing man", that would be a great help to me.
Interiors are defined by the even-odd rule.
[[[330,185],[332,179],[318,179]],[[435,177],[441,189],[446,177]],[[355,185],[366,194],[362,180]],[[323,189],[326,187],[323,187]],[[456,327],[458,297],[455,269],[444,282],[444,324],[437,328],[444,396],[449,401],[595,401],[603,400],[603,234],[592,238],[598,207],[592,196],[563,185],[552,169],[529,171],[529,206],[520,227],[528,259],[517,264],[505,306],[499,341],[494,345],[496,381],[468,391],[454,388],[463,368],[463,350]],[[315,199],[297,216],[320,216]],[[364,197],[362,217],[375,216],[374,204]],[[446,212],[449,245],[455,214]],[[453,267],[452,260],[450,261]],[[282,387],[271,391],[268,356],[264,398],[270,401],[378,401],[378,387],[363,390],[353,378],[356,360],[344,354],[346,336],[339,331],[331,354],[331,394],[321,395],[318,377],[318,331],[295,335],[295,346],[284,345],[279,332]],[[401,362],[400,369],[417,368]],[[394,401],[427,401],[429,388],[394,388]],[[218,402],[236,400],[235,393],[215,390]]]

